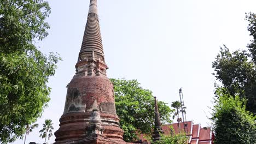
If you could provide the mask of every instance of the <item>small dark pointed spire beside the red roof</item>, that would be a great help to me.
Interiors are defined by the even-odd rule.
[[[164,133],[164,131],[162,131],[162,124],[160,121],[160,115],[159,115],[159,111],[158,111],[158,101],[156,100],[155,97],[155,125],[154,125],[154,132],[153,132],[153,141],[157,141],[161,139],[161,135]]]

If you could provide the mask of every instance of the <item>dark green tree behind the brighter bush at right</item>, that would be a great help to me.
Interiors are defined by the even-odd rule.
[[[220,53],[213,62],[213,75],[222,82],[231,95],[239,93],[246,98],[247,110],[256,113],[256,66],[246,51],[230,52],[228,47],[220,47]]]

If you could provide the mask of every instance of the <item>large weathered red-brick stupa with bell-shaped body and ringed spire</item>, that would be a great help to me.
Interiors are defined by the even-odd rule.
[[[79,59],[67,85],[67,96],[60,128],[59,143],[126,143],[115,110],[114,89],[106,76],[97,14],[97,0],[90,1]]]

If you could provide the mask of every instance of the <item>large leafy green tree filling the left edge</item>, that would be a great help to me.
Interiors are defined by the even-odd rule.
[[[50,14],[43,0],[0,2],[0,141],[13,142],[36,122],[50,100],[49,76],[59,56],[45,56],[34,45],[47,35]]]

